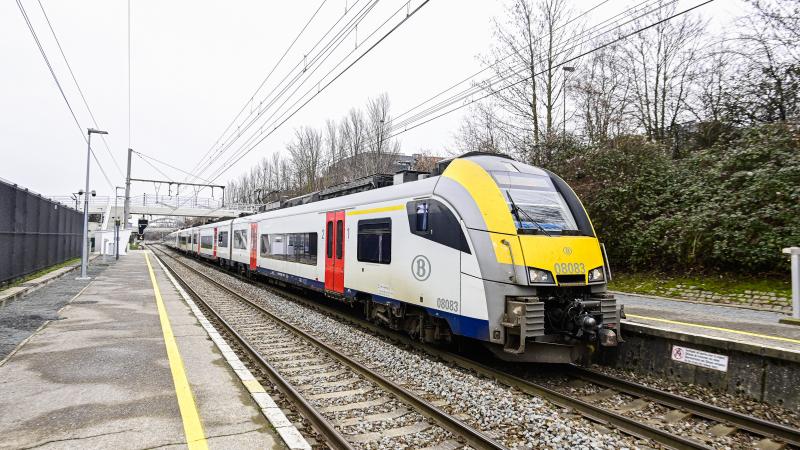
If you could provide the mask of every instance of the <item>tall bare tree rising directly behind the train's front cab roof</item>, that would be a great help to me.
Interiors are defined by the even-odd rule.
[[[459,130],[466,148],[514,153],[544,164],[562,130],[564,71],[580,34],[566,0],[512,0],[495,20],[496,44],[483,62],[493,81],[483,82],[492,101],[473,108]],[[480,84],[479,84],[480,85]]]

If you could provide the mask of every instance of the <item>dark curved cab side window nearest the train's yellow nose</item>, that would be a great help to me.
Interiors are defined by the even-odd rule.
[[[408,226],[421,238],[471,253],[461,222],[444,203],[434,200],[418,200],[406,203]]]

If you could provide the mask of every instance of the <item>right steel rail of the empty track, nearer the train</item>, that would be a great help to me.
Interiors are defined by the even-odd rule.
[[[162,250],[163,252],[163,250]],[[322,349],[323,351],[329,353],[330,355],[334,356],[340,362],[345,364],[346,366],[350,367],[353,371],[359,373],[364,378],[371,380],[372,382],[376,383],[377,385],[381,386],[382,388],[386,389],[388,392],[395,395],[398,399],[410,404],[413,406],[417,411],[422,413],[424,416],[430,418],[434,422],[436,422],[442,428],[450,431],[451,433],[462,437],[469,445],[482,448],[482,449],[503,449],[505,450],[506,447],[500,444],[499,442],[495,441],[494,439],[490,438],[483,432],[472,428],[471,426],[465,424],[459,419],[445,413],[438,407],[434,406],[433,404],[429,403],[422,397],[412,393],[411,391],[395,384],[394,382],[388,380],[387,378],[375,373],[371,369],[367,368],[366,366],[362,365],[361,363],[353,360],[349,356],[341,353],[340,351],[334,349],[333,347],[325,344],[324,342],[320,341],[319,339],[311,336],[310,334],[306,333],[305,331],[301,330],[300,328],[292,325],[291,323],[281,319],[280,317],[276,316],[269,310],[265,309],[263,306],[258,305],[245,297],[244,295],[236,292],[235,290],[225,286],[224,284],[220,283],[217,280],[209,277],[208,275],[198,271],[197,269],[190,267],[186,263],[179,261],[175,258],[172,258],[173,261],[181,264],[182,266],[186,267],[193,273],[197,274],[198,276],[204,278],[206,281],[218,286],[222,290],[230,293],[233,297],[247,303],[248,305],[254,307],[259,312],[263,313],[270,319],[274,320],[281,326],[285,327],[296,336],[305,339],[318,348]],[[220,318],[221,319],[221,318]]]

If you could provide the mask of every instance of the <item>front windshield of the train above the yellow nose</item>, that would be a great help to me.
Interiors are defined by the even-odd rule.
[[[550,177],[520,172],[493,171],[521,233],[580,234],[564,197]]]

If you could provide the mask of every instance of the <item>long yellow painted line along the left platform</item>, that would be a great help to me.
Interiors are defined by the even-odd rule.
[[[175,395],[178,397],[178,408],[181,411],[183,420],[183,432],[186,434],[186,444],[190,450],[207,450],[208,443],[203,431],[203,424],[200,422],[200,413],[192,395],[192,388],[186,378],[186,370],[183,366],[178,344],[175,342],[175,335],[172,333],[172,325],[169,323],[167,309],[164,307],[164,300],[161,298],[161,290],[158,288],[156,274],[150,264],[150,256],[144,254],[147,262],[147,270],[150,272],[150,281],[153,283],[153,292],[158,306],[158,317],[161,320],[161,331],[164,334],[164,344],[167,347],[167,358],[169,359],[169,369],[172,372],[172,382],[175,384]]]

